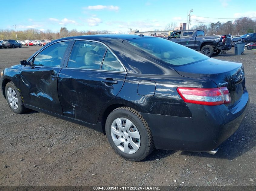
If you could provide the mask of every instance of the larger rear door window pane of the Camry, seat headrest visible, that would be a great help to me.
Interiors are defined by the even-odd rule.
[[[107,48],[101,43],[78,40],[72,48],[68,67],[99,70],[106,50]]]

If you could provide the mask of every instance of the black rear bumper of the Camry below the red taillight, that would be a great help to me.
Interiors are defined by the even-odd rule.
[[[187,104],[192,117],[141,113],[151,129],[157,149],[211,151],[240,126],[249,106],[246,89],[240,102],[228,110],[225,105]]]

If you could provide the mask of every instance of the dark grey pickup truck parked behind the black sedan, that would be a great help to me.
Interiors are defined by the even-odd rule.
[[[200,51],[207,56],[216,56],[221,50],[229,50],[231,35],[204,36],[203,30],[178,30],[172,33],[168,40]]]

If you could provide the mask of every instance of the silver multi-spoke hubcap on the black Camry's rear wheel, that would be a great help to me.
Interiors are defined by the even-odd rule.
[[[141,145],[141,137],[137,127],[126,118],[117,118],[113,121],[111,137],[116,147],[127,154],[137,152]]]

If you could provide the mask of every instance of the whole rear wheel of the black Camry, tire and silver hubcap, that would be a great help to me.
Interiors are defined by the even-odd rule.
[[[148,123],[130,107],[119,107],[108,115],[106,135],[117,154],[130,161],[141,161],[155,147]]]

